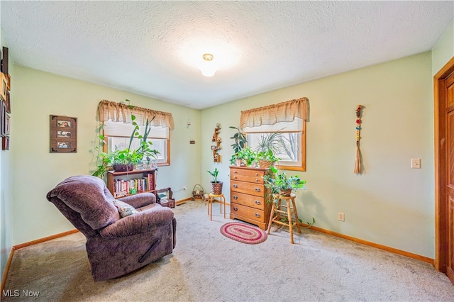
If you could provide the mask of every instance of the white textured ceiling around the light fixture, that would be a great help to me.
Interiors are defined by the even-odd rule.
[[[1,1],[1,25],[17,65],[201,109],[431,50],[453,3]]]

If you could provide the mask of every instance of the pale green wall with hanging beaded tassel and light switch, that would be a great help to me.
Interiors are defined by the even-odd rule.
[[[203,157],[210,157],[214,125],[223,128],[223,162],[202,161],[202,182],[209,182],[207,169],[218,167],[228,194],[234,132],[228,126],[238,125],[241,110],[302,96],[309,98],[310,121],[307,171],[299,173],[307,181],[307,190],[297,193],[300,218],[314,217],[319,228],[434,257],[431,52],[202,111]],[[365,106],[362,175],[353,173],[358,104]],[[412,157],[421,158],[421,169],[411,169]],[[345,222],[338,221],[338,212],[345,213]]]

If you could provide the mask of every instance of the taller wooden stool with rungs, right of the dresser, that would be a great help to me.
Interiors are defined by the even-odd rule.
[[[276,201],[272,201],[270,223],[268,223],[267,233],[270,234],[271,224],[277,223],[279,225],[285,225],[289,227],[290,230],[290,243],[293,242],[293,227],[297,225],[298,233],[301,234],[301,227],[299,226],[299,218],[297,212],[297,206],[295,206],[295,194],[290,194],[290,196],[279,195],[277,206]],[[282,199],[285,199],[285,205],[282,205]],[[287,211],[282,210],[282,208],[287,208]],[[282,214],[282,218],[281,218]],[[294,214],[292,218],[292,214]],[[286,217],[287,216],[287,217]],[[281,219],[287,219],[286,222],[282,222]]]

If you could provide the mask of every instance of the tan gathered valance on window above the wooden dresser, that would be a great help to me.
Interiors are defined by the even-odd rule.
[[[301,98],[241,111],[241,128],[274,125],[279,122],[292,122],[295,117],[306,121],[309,116],[308,103],[309,100],[307,98]]]

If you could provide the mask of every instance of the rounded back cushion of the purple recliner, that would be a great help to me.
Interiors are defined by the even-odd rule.
[[[104,181],[98,177],[89,175],[69,177],[57,184],[48,193],[47,198],[53,203],[55,198],[65,203],[79,213],[84,223],[94,230],[104,228],[120,219],[118,210],[112,203],[114,196],[106,188]],[[77,228],[77,225],[71,222]]]

